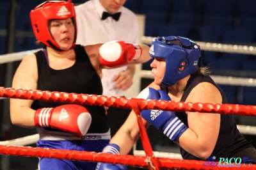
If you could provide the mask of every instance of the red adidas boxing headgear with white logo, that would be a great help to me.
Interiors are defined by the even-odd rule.
[[[56,50],[61,50],[60,45],[54,41],[49,31],[49,20],[65,20],[72,19],[75,27],[73,48],[76,45],[76,12],[74,4],[68,1],[45,1],[36,6],[30,12],[30,20],[36,39],[45,45]]]

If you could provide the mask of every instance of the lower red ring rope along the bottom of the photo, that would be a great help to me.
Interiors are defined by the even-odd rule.
[[[60,158],[68,160],[81,160],[90,162],[104,162],[112,164],[123,164],[135,167],[147,167],[147,157],[138,157],[132,155],[114,155],[109,153],[96,153],[90,151],[74,151],[74,150],[58,150],[58,149],[45,149],[33,148],[30,146],[5,146],[0,145],[0,151],[3,155],[19,155],[27,157],[47,157],[47,158]],[[227,167],[205,167],[205,161],[197,160],[180,160],[170,158],[156,158],[159,162],[159,168],[163,169],[226,169]],[[239,167],[239,169],[255,170],[256,166]]]

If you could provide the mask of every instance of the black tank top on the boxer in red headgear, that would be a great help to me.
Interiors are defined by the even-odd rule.
[[[84,47],[76,45],[76,62],[73,66],[63,70],[54,70],[48,63],[42,50],[35,53],[38,66],[38,89],[42,91],[60,91],[67,93],[84,93],[88,95],[102,95],[100,77],[95,72]],[[44,102],[35,100],[32,109],[42,107],[56,107],[67,103]],[[83,105],[92,115],[92,124],[88,133],[106,133],[109,130],[105,109],[102,106]],[[56,130],[55,128],[45,128]],[[57,130],[59,131],[59,130]]]

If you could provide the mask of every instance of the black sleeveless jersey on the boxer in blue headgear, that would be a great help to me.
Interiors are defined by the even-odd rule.
[[[181,102],[185,102],[186,98],[188,97],[189,93],[197,84],[200,82],[211,82],[220,90],[222,96],[222,103],[227,104],[228,100],[225,93],[222,91],[220,86],[218,86],[209,76],[204,75],[191,75],[188,80],[188,84],[185,88],[185,91],[182,95]],[[207,94],[205,94],[207,95]],[[176,116],[188,127],[188,115],[186,112],[175,112]],[[205,134],[207,135],[207,134]],[[229,114],[221,114],[221,122],[220,122],[220,133],[218,136],[218,140],[216,146],[212,152],[212,156],[217,155],[219,151],[221,151],[225,146],[235,141],[237,137],[240,135],[239,130],[236,127],[236,121],[234,120],[232,115]],[[180,153],[182,158],[189,159],[189,160],[200,160],[200,158],[191,155],[187,151],[180,148]]]

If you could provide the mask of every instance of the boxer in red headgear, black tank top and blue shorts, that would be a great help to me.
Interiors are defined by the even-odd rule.
[[[76,13],[70,0],[45,1],[31,10],[30,17],[35,37],[44,44],[44,49],[22,59],[13,77],[13,88],[102,95],[101,71],[109,65],[100,63],[100,57],[106,60],[105,63],[112,62],[111,66],[115,67],[120,63],[123,65],[125,60],[128,60],[125,64],[136,64],[150,59],[149,47],[142,44],[140,48],[144,50],[132,60],[130,56],[134,55],[135,47],[123,45],[121,50],[109,47],[120,58],[118,62],[106,56],[108,49],[100,48],[100,43],[77,45]],[[11,99],[12,123],[26,128],[37,127],[40,135],[38,147],[102,151],[110,139],[104,107],[60,101]],[[40,170],[95,169],[96,164],[40,158],[39,167]]]

